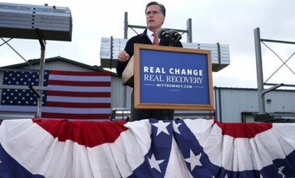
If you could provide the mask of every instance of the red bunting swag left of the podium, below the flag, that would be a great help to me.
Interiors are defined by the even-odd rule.
[[[119,135],[126,131],[126,121],[69,121],[69,120],[40,120],[33,122],[43,127],[44,130],[58,137],[58,141],[73,140],[86,147],[95,147],[104,143],[112,143]]]

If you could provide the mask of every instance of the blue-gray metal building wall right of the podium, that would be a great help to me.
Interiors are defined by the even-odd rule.
[[[295,90],[274,90],[264,98],[266,112],[295,112]],[[215,103],[218,120],[242,122],[242,112],[258,111],[258,93],[249,88],[215,88]]]

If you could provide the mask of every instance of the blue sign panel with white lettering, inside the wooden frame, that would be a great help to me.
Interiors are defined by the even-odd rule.
[[[140,103],[210,105],[208,55],[139,50]]]

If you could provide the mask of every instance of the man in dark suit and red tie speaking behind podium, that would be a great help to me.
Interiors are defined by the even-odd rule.
[[[146,4],[146,30],[127,41],[124,51],[118,55],[117,74],[122,76],[124,69],[129,62],[129,59],[134,55],[134,43],[143,43],[150,45],[169,46],[168,39],[160,40],[156,37],[156,33],[161,29],[165,21],[166,9],[163,4],[152,1]],[[183,47],[178,41],[173,46]],[[173,119],[173,110],[148,110],[148,109],[134,109],[134,92],[132,92],[131,118],[130,120],[143,120],[155,118],[158,120]]]

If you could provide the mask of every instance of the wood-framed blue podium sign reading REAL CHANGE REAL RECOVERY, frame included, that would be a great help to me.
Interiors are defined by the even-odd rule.
[[[134,107],[213,110],[210,51],[135,44]]]

